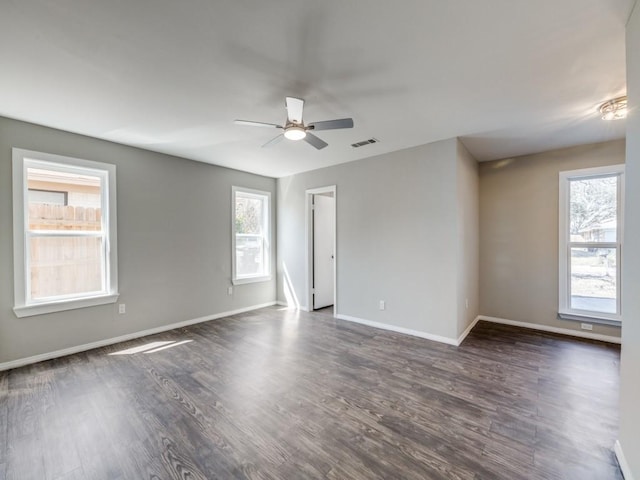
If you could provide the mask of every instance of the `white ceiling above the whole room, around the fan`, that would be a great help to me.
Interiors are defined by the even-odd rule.
[[[451,137],[478,160],[624,137],[634,0],[2,0],[0,115],[281,177]],[[329,147],[261,145],[353,117]],[[375,137],[379,144],[354,149]]]

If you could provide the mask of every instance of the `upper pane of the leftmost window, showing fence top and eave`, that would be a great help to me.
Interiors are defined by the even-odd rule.
[[[100,177],[27,169],[29,230],[102,228]]]

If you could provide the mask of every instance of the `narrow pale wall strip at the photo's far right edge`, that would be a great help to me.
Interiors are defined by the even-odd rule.
[[[627,167],[623,275],[622,361],[620,372],[620,444],[632,475],[640,479],[640,6],[627,25]]]

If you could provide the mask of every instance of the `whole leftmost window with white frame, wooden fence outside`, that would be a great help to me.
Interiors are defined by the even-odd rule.
[[[14,312],[114,303],[114,165],[13,149]]]

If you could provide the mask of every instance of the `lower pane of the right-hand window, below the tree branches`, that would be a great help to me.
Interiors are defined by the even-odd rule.
[[[616,314],[617,250],[571,249],[571,308]]]

